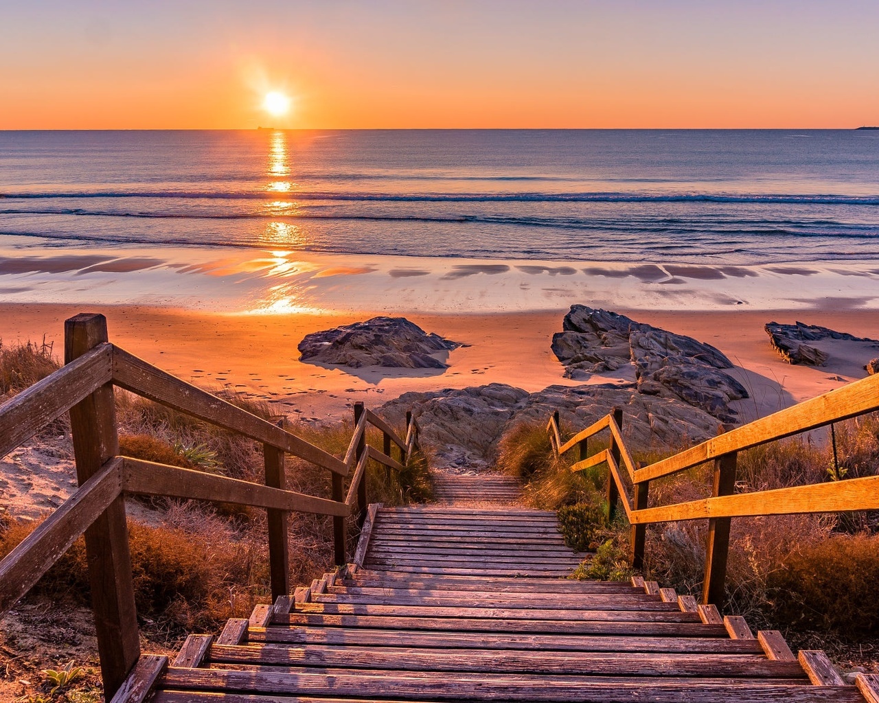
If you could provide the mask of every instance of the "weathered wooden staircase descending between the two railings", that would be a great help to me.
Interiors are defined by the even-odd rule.
[[[744,619],[639,577],[559,578],[578,562],[550,512],[371,505],[354,563],[229,620],[216,640],[191,635],[167,669],[142,656],[120,693],[153,703],[864,700],[823,652],[797,660],[777,632],[754,636]]]

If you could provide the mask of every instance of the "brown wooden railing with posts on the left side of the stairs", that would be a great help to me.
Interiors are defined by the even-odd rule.
[[[0,456],[70,414],[79,488],[0,561],[0,616],[25,595],[81,535],[89,563],[92,610],[105,698],[119,691],[140,657],[124,498],[170,496],[250,505],[267,512],[272,599],[289,593],[287,515],[333,518],[335,559],[346,562],[346,521],[362,524],[367,508],[367,462],[402,471],[418,447],[418,424],[406,415],[405,438],[363,403],[354,405],[354,431],[340,460],[278,424],[151,366],[110,344],[104,315],[76,315],[64,326],[65,366],[0,405]],[[113,387],[236,432],[263,444],[265,485],[120,456]],[[367,445],[367,425],[382,449]],[[399,448],[398,460],[391,445]],[[331,498],[285,488],[290,454],[331,472]],[[350,487],[344,495],[344,480]]]

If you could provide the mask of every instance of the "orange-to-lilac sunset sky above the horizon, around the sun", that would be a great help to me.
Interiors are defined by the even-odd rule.
[[[0,129],[879,124],[879,2],[10,2]],[[281,120],[260,109],[286,91]]]

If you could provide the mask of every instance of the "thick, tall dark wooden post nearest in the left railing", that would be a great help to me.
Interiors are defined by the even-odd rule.
[[[64,323],[64,363],[106,341],[104,315],[71,317]],[[83,485],[106,460],[119,453],[111,383],[70,409],[70,431],[76,480]],[[123,496],[117,497],[85,531],[85,553],[104,696],[110,700],[141,656]]]

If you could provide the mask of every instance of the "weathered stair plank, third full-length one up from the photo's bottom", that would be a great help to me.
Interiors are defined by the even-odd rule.
[[[466,624],[461,625],[467,627]],[[252,641],[285,644],[361,645],[368,647],[412,647],[421,649],[526,649],[570,652],[697,652],[701,654],[750,654],[763,656],[756,640],[730,640],[729,637],[644,637],[639,635],[544,633],[475,633],[377,629],[366,627],[261,627],[251,634]],[[218,644],[235,644],[221,642]]]

